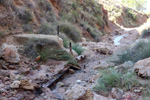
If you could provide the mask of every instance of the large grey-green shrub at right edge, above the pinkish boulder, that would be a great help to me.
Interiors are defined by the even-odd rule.
[[[150,57],[150,41],[140,39],[136,41],[130,48],[118,54],[117,63],[121,64],[125,61],[137,62],[138,60]]]

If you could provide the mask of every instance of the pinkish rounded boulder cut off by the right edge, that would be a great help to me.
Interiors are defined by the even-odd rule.
[[[150,58],[138,61],[134,65],[134,71],[141,77],[150,76]]]

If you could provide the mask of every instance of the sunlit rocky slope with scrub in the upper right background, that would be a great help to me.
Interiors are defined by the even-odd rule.
[[[116,22],[124,27],[137,27],[145,23],[148,16],[142,12],[122,5],[120,2],[113,0],[97,0],[108,11],[111,21]]]

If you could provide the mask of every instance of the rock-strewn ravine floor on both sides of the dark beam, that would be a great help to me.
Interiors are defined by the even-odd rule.
[[[113,40],[123,34],[126,36],[120,39],[121,45],[114,45]],[[0,54],[2,100],[108,100],[112,97],[106,98],[91,91],[96,84],[96,79],[100,77],[98,70],[114,66],[108,58],[126,45],[133,43],[138,38],[138,32],[117,29],[105,36],[102,42],[81,42],[80,45],[85,49],[83,55],[86,56],[79,62],[81,70],[69,70],[52,90],[47,87],[41,88],[41,84],[63,70],[65,62],[54,60],[44,63],[34,62],[18,53],[19,44],[10,45],[10,40],[15,40],[16,36],[8,38],[6,44],[2,45]],[[126,94],[128,93],[124,95]],[[136,95],[134,98],[140,97]]]

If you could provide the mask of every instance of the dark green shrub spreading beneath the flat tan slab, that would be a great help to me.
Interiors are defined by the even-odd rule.
[[[47,59],[70,60],[73,58],[65,50],[60,49],[60,45],[56,41],[32,39],[25,44],[25,47],[25,54],[34,59],[40,55],[42,61]]]

